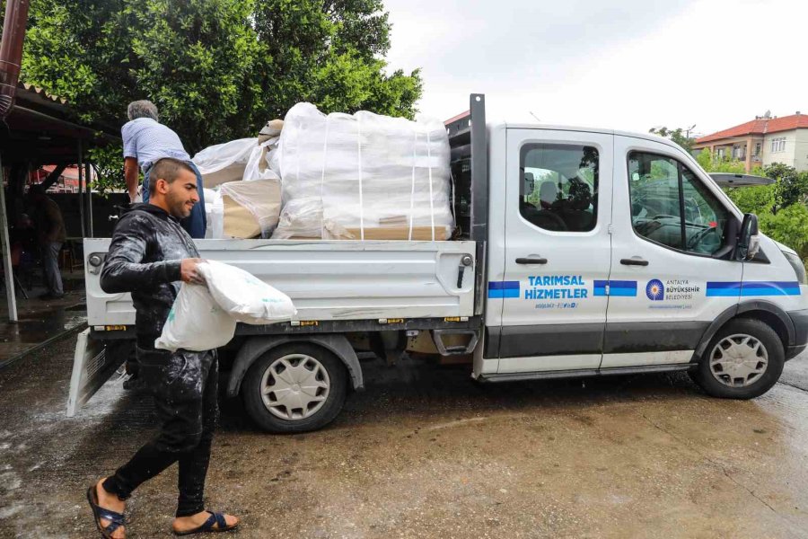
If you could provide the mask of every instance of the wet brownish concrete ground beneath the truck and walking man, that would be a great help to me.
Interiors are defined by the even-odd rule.
[[[119,384],[66,419],[73,343],[0,371],[2,537],[95,536],[84,490],[153,432]],[[751,402],[681,375],[479,386],[365,365],[320,432],[270,436],[225,402],[207,499],[244,537],[805,537],[806,364]],[[175,484],[136,491],[129,537],[170,536]]]

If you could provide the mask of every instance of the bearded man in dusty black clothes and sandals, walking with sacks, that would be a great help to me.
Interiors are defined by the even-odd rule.
[[[202,500],[218,413],[215,350],[154,349],[180,281],[203,283],[197,248],[179,223],[198,203],[196,175],[187,163],[165,158],[154,164],[151,177],[149,204],[134,206],[115,229],[101,270],[101,288],[110,294],[132,294],[138,376],[154,396],[161,429],[114,475],[87,490],[105,537],[124,537],[124,500],[174,463],[180,466],[175,533],[222,531],[238,524],[236,517],[206,511]]]

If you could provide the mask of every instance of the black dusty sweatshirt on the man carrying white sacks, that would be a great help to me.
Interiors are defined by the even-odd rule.
[[[101,289],[132,293],[139,347],[154,349],[180,291],[180,261],[198,256],[179,221],[161,208],[137,204],[120,218],[101,270]]]

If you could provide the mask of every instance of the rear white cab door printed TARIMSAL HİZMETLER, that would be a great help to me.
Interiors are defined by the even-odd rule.
[[[612,135],[507,130],[499,374],[596,369],[609,278]]]

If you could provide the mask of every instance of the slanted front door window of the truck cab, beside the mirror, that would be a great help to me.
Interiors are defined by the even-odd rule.
[[[724,245],[729,211],[684,165],[663,155],[632,152],[628,181],[637,234],[699,254],[713,254]]]

